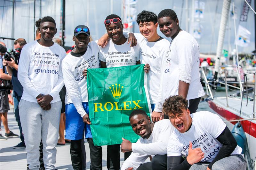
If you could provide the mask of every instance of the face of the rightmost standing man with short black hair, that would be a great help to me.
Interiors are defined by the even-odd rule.
[[[160,31],[166,36],[172,39],[179,33],[180,26],[179,20],[176,18],[172,20],[170,17],[162,17],[157,19]]]

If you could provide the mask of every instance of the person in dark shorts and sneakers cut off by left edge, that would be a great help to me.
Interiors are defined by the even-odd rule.
[[[0,42],[0,117],[5,129],[5,137],[0,133],[0,140],[6,140],[8,137],[17,137],[18,135],[10,131],[8,127],[7,112],[10,110],[8,92],[10,92],[10,81],[12,77],[7,74],[5,67],[3,66],[3,56],[7,49],[3,42]]]

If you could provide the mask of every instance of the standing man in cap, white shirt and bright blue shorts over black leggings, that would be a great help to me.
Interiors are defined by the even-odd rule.
[[[66,93],[66,139],[71,140],[70,155],[74,170],[86,168],[84,134],[87,140],[92,140],[89,118],[87,82],[83,76],[84,69],[99,68],[98,53],[100,47],[95,41],[89,42],[90,30],[79,25],[74,30],[73,41],[76,48],[62,61],[62,71]],[[89,143],[90,152],[91,145]],[[91,168],[93,168],[91,154]]]

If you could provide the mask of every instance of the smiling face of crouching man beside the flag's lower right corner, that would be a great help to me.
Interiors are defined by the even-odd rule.
[[[152,133],[150,118],[145,115],[134,115],[130,118],[132,130],[142,138],[148,139]]]

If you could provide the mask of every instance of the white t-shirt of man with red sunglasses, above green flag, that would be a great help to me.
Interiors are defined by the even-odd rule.
[[[99,59],[106,62],[107,68],[136,65],[140,61],[140,46],[130,47],[127,43],[116,45],[110,40],[106,47],[100,48]]]

